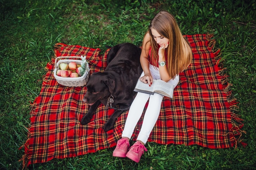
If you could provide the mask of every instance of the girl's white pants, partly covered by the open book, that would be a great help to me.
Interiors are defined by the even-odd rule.
[[[161,79],[159,74],[159,69],[157,67],[154,67],[151,64],[149,64],[149,70],[153,79]],[[144,76],[144,72],[141,73],[141,77],[142,76]],[[179,82],[179,75],[176,75],[174,79],[170,79],[168,81],[168,83],[172,84],[174,87],[177,86],[178,82]],[[144,115],[141,130],[137,137],[137,140],[140,140],[144,144],[146,144],[148,137],[150,135],[150,132],[154,128],[155,123],[158,119],[163,97],[164,97],[163,95],[160,95],[158,93],[154,93],[154,95],[149,95],[146,93],[138,92],[130,106],[130,110],[126,119],[122,137],[128,137],[129,139],[132,137],[132,133],[135,129],[135,126],[137,125],[143,113],[146,102],[148,101],[148,98],[149,98],[149,103]]]

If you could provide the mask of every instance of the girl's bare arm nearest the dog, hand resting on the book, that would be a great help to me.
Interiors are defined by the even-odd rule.
[[[144,36],[144,39],[143,39],[142,50],[141,50],[141,55],[140,55],[140,64],[144,71],[144,76],[140,77],[140,80],[141,80],[141,82],[148,83],[149,86],[153,82],[153,78],[149,71],[149,62],[148,62],[150,46],[151,46],[150,35],[149,35],[149,33],[146,33]]]

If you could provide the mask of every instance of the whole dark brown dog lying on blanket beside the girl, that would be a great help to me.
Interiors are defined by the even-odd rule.
[[[130,43],[118,44],[110,49],[105,71],[93,73],[86,84],[83,102],[89,104],[90,108],[81,119],[81,124],[90,122],[100,103],[106,109],[116,109],[104,125],[105,131],[112,129],[117,117],[128,110],[136,95],[133,90],[142,73],[140,53],[141,49]]]

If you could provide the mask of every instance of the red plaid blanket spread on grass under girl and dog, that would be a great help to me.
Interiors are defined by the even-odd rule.
[[[230,84],[218,67],[220,50],[214,50],[212,35],[185,35],[192,47],[192,64],[180,73],[180,83],[173,99],[164,97],[159,119],[148,141],[158,144],[197,144],[208,148],[229,148],[241,142],[242,120],[234,113],[236,100],[231,97]],[[106,68],[108,50],[56,44],[56,56],[85,55],[90,74]],[[54,78],[54,61],[48,69],[40,95],[32,104],[31,127],[24,144],[23,166],[42,163],[53,158],[74,157],[116,145],[121,137],[128,111],[122,114],[113,130],[103,126],[114,110],[101,104],[92,121],[79,122],[88,110],[82,102],[85,87],[65,87]],[[142,120],[142,118],[141,118]],[[138,135],[141,120],[135,128]]]

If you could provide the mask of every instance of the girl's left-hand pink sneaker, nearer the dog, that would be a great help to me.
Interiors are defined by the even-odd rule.
[[[117,141],[117,147],[113,152],[113,157],[125,158],[129,147],[130,147],[130,144],[127,138],[119,139]]]

